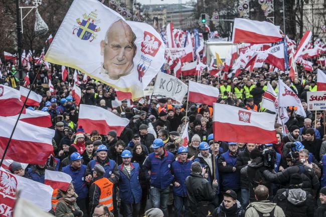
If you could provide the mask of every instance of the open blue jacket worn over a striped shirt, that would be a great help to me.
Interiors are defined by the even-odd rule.
[[[141,186],[139,183],[139,164],[130,163],[131,172],[130,175],[123,167],[123,164],[118,165],[120,179],[119,189],[120,198],[124,203],[139,203],[141,199]]]

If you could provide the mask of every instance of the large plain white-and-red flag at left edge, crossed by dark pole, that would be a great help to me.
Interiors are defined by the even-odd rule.
[[[15,126],[16,120],[0,117],[0,155],[4,150]],[[5,159],[22,163],[44,164],[53,152],[52,138],[55,131],[18,121],[16,130],[7,150]]]

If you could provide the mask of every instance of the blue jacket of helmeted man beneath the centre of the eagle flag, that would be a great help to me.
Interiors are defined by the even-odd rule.
[[[226,166],[220,166],[220,162],[226,162]],[[222,187],[224,190],[238,190],[240,188],[240,171],[232,171],[236,167],[237,157],[230,155],[230,151],[223,153],[219,159],[219,169],[222,177]]]

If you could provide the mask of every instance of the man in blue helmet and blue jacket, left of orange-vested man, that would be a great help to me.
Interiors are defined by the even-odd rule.
[[[86,172],[86,165],[81,163],[83,157],[74,152],[70,155],[70,164],[62,168],[62,172],[67,173],[72,178],[75,192],[78,195],[76,200],[77,205],[83,211],[84,217],[87,216],[86,198],[88,196],[88,188],[84,179]]]

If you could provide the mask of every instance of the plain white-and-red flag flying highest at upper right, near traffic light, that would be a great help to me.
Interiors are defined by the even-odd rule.
[[[236,18],[233,26],[233,43],[264,44],[282,41],[279,28],[272,23]]]

